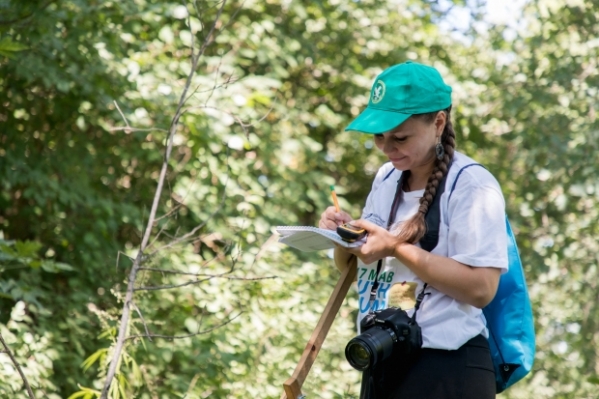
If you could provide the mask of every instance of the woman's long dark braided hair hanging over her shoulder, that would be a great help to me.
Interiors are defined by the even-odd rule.
[[[412,118],[421,119],[423,122],[430,124],[435,121],[439,112],[445,112],[447,115],[447,121],[445,122],[443,133],[441,134],[441,144],[445,149],[445,155],[443,155],[443,159],[441,160],[435,158],[435,167],[428,178],[424,194],[422,195],[422,198],[420,198],[418,212],[401,226],[401,231],[398,235],[401,242],[415,244],[424,236],[424,234],[426,234],[426,222],[424,216],[428,211],[428,207],[433,203],[439,183],[443,180],[443,177],[447,175],[449,165],[453,159],[453,153],[455,151],[455,132],[453,130],[453,125],[451,124],[451,106],[442,111],[412,115]],[[400,184],[406,183],[409,177],[409,170],[403,172]]]

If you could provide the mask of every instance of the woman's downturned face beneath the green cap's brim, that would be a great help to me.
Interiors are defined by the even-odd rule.
[[[393,130],[374,136],[374,143],[399,170],[429,169],[435,162],[435,145],[445,126],[445,113],[434,122],[409,118]]]

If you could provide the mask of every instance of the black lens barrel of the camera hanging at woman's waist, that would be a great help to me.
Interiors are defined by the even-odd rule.
[[[356,370],[364,371],[391,356],[397,337],[391,329],[373,327],[345,347],[345,357]]]

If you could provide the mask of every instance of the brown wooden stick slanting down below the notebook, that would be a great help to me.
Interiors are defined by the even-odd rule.
[[[339,308],[347,295],[347,291],[349,291],[349,287],[356,279],[356,264],[357,262],[355,262],[354,259],[343,273],[341,273],[341,277],[329,298],[329,302],[327,303],[322,316],[320,316],[320,320],[318,320],[316,328],[312,332],[312,336],[304,349],[304,353],[302,354],[293,375],[283,384],[285,392],[281,395],[281,399],[302,399],[305,397],[301,391],[302,385],[329,333],[329,329],[335,320],[337,312],[339,312]]]

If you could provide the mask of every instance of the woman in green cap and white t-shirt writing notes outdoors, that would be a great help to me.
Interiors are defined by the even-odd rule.
[[[360,220],[330,207],[319,222],[331,230],[351,222],[368,233],[359,248],[335,249],[340,270],[358,262],[358,321],[388,307],[412,316],[423,294],[415,317],[422,349],[416,358],[400,356],[375,368],[377,399],[495,397],[481,308],[507,270],[505,203],[495,178],[480,166],[462,170],[448,201],[458,172],[475,163],[454,151],[450,110],[451,88],[434,68],[407,62],[383,71],[368,107],[346,130],[373,134],[390,162],[377,173]],[[444,179],[438,244],[428,252],[419,240]],[[374,281],[376,299],[369,300]]]

